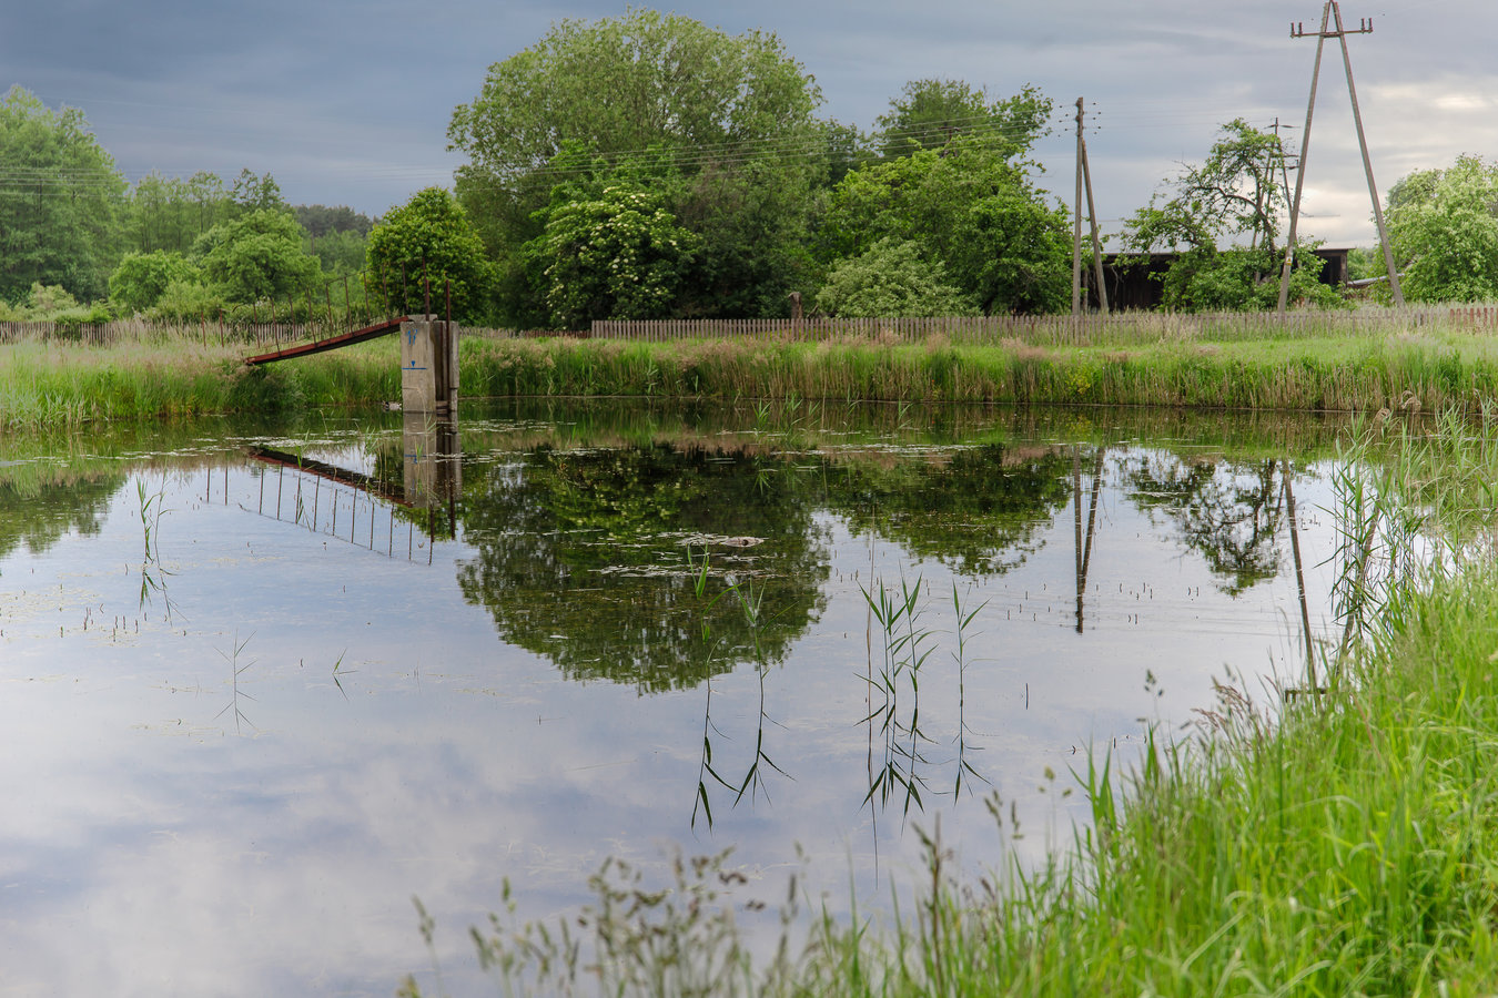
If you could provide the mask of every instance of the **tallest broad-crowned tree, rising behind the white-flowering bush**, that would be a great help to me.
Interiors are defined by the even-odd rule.
[[[701,236],[683,314],[785,310],[813,180],[833,142],[819,90],[773,34],[725,34],[631,9],[560,21],[490,67],[448,129],[469,159],[457,193],[499,260],[506,319],[541,322],[521,247],[541,235],[557,186],[649,159],[662,206]]]

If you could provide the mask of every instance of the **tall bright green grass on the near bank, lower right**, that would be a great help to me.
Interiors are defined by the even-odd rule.
[[[788,908],[780,956],[750,967],[721,857],[659,889],[611,863],[581,922],[475,929],[481,962],[533,994],[1494,994],[1498,429],[1374,425],[1354,450],[1342,579],[1381,600],[1329,688],[1273,720],[1222,690],[1122,789],[1095,759],[1094,824],[1050,868],[957,883],[930,842],[896,929]]]

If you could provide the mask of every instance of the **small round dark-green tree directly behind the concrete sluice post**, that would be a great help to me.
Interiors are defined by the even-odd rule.
[[[475,322],[490,311],[493,278],[484,244],[463,206],[440,187],[416,192],[392,208],[370,232],[367,259],[372,275],[400,310],[425,308],[425,278],[434,313],[445,310],[448,280],[455,320]]]

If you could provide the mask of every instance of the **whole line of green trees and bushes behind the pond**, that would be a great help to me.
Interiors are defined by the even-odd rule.
[[[12,88],[0,317],[87,302],[187,319],[363,268],[449,280],[464,322],[511,328],[1068,307],[1071,214],[1032,157],[1053,114],[1040,90],[911,81],[872,132],[819,117],[821,103],[774,34],[647,9],[560,21],[454,109],[454,189],[374,220],[288,205],[247,169],[130,186],[81,112]],[[1285,180],[1278,136],[1234,120],[1125,221],[1122,245],[1174,254],[1167,308],[1272,307]],[[1390,189],[1411,299],[1498,295],[1495,203],[1498,168],[1474,157]],[[1338,304],[1318,269],[1299,248],[1294,298]]]

